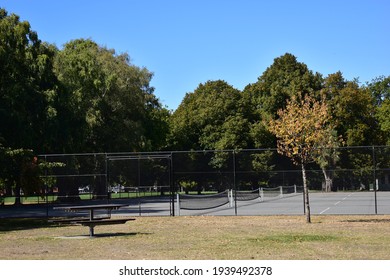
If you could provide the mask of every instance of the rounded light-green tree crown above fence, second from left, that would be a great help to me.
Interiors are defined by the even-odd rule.
[[[55,63],[70,115],[64,128],[77,151],[142,151],[164,145],[169,112],[150,86],[152,73],[128,54],[92,40],[67,43]]]

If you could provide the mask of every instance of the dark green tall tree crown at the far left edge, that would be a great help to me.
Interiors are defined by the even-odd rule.
[[[27,21],[0,9],[0,138],[5,147],[42,152],[49,145],[54,53]]]

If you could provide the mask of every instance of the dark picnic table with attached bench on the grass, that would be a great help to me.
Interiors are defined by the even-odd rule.
[[[54,210],[63,210],[66,212],[85,212],[89,213],[86,217],[81,218],[70,218],[70,219],[58,219],[53,220],[59,223],[71,223],[71,224],[80,224],[83,226],[89,227],[89,236],[94,236],[94,228],[97,225],[114,225],[114,224],[124,224],[128,221],[133,221],[135,219],[111,219],[111,212],[117,210],[121,207],[126,207],[126,204],[93,204],[93,205],[77,205],[77,206],[63,206],[63,207],[54,207]],[[98,210],[107,210],[108,216],[95,216],[96,211]]]

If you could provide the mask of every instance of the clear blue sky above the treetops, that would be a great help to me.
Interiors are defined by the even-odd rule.
[[[154,73],[176,109],[200,83],[242,90],[276,57],[292,53],[313,72],[364,83],[390,75],[388,0],[0,0],[41,40],[78,38],[127,52]]]

